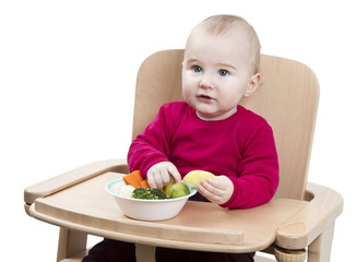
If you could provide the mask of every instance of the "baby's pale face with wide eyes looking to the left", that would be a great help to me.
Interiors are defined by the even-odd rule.
[[[252,66],[245,37],[191,34],[185,51],[182,95],[199,117],[221,120],[234,115],[251,84]]]

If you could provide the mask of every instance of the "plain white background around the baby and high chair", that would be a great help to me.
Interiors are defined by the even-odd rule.
[[[309,64],[320,107],[309,181],[345,199],[332,261],[350,261],[356,235],[354,1],[1,1],[1,255],[55,261],[58,228],[27,216],[23,190],[94,160],[124,158],[135,74],[157,50],[183,48],[218,13],[246,17],[262,52]]]

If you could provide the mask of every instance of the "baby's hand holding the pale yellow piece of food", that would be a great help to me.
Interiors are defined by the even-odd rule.
[[[211,202],[224,204],[230,199],[235,187],[228,177],[217,176],[216,180],[209,178],[199,183],[197,190]]]

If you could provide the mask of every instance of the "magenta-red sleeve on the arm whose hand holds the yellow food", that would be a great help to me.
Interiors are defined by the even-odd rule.
[[[278,160],[271,127],[264,121],[247,135],[241,145],[238,177],[229,177],[234,194],[223,207],[249,209],[269,202],[278,186]]]

